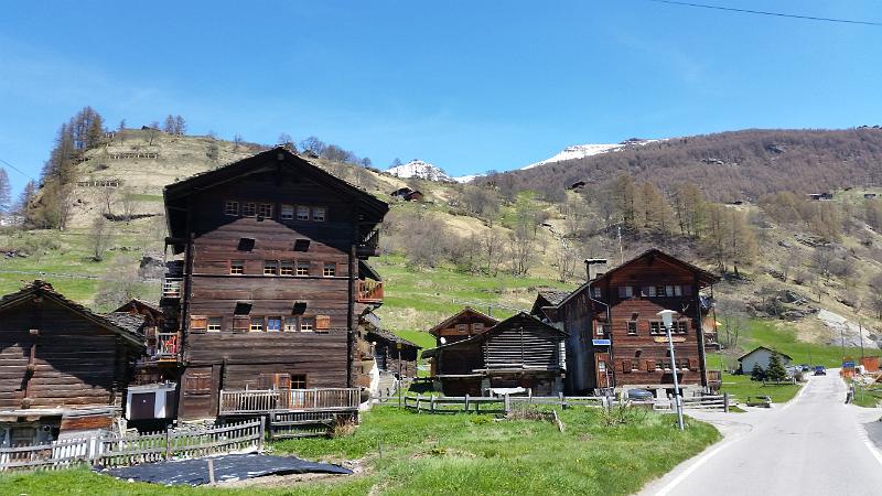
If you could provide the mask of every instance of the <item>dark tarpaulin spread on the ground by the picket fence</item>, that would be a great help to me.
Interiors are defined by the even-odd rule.
[[[271,456],[262,454],[232,454],[214,456],[215,482],[240,481],[263,475],[288,474],[342,474],[353,472],[330,463],[308,462],[294,456]],[[186,484],[198,486],[208,484],[208,459],[176,460],[170,462],[144,463],[141,465],[100,471],[122,479],[155,484]]]

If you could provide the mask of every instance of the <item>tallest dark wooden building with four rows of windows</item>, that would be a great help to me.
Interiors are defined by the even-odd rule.
[[[356,336],[383,303],[359,260],[388,206],[278,147],[165,187],[181,259],[163,287],[183,369],[179,417],[218,413],[219,391],[363,382]]]

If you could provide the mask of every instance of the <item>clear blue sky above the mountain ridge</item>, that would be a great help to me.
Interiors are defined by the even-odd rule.
[[[882,21],[879,0],[707,1]],[[180,114],[192,133],[315,134],[454,174],[574,143],[882,123],[878,26],[646,0],[34,1],[1,19],[0,159],[33,176],[85,105],[114,127]]]

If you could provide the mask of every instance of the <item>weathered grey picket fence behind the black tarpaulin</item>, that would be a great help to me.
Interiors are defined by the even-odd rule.
[[[0,449],[0,472],[60,470],[78,463],[125,466],[173,459],[193,459],[263,449],[263,419],[193,431],[165,431],[121,436],[72,439]]]

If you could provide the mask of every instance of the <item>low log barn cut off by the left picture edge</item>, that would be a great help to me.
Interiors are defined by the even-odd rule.
[[[0,446],[109,429],[143,337],[33,281],[0,300]]]

